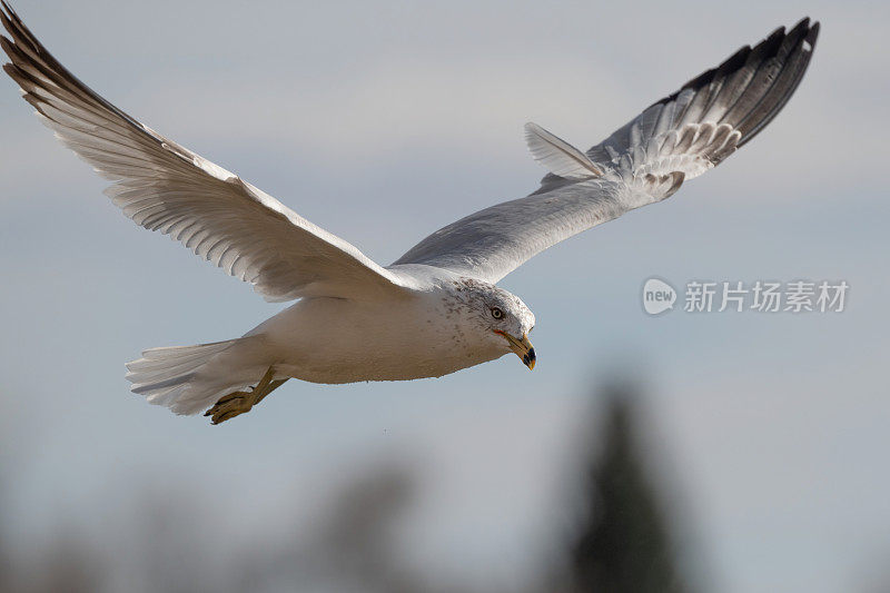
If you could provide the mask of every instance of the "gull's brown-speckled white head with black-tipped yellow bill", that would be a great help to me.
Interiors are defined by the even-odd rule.
[[[477,340],[500,355],[515,353],[530,369],[535,367],[535,349],[528,342],[535,316],[520,297],[493,284],[467,278],[455,283],[453,290],[462,317]]]

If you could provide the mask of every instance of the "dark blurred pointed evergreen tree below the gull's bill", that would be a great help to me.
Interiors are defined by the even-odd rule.
[[[602,428],[591,442],[583,512],[570,546],[571,589],[596,593],[683,593],[674,547],[636,441],[636,389],[604,389]]]

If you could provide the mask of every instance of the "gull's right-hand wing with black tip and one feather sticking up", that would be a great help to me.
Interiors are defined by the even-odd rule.
[[[775,117],[800,83],[818,34],[819,23],[810,24],[810,19],[788,32],[777,29],[753,49],[743,47],[652,105],[586,154],[526,126],[532,155],[551,170],[541,188],[437,230],[394,266],[424,264],[494,283],[547,247],[670,197]]]

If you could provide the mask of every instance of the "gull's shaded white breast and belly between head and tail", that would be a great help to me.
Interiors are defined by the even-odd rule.
[[[263,323],[281,374],[314,383],[438,377],[497,358],[437,290],[390,300],[307,298]]]

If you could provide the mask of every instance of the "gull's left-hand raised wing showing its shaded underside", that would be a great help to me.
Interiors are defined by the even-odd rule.
[[[68,148],[116,181],[106,190],[136,224],[160,230],[254,285],[267,300],[366,297],[398,276],[271,196],[90,90],[59,63],[3,1],[3,69]]]

